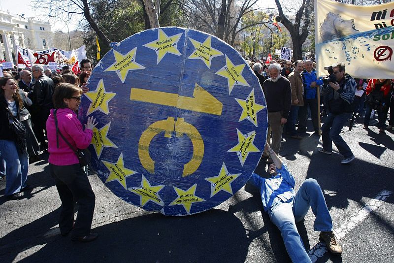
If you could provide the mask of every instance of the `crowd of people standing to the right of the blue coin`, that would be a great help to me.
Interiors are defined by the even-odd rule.
[[[280,149],[277,143],[280,140],[278,137],[282,137],[283,130],[290,134],[291,138],[302,139],[302,135],[308,131],[307,120],[312,120],[313,135],[322,135],[323,148],[319,149],[319,152],[331,154],[331,142],[333,142],[344,156],[342,164],[349,164],[355,158],[339,135],[340,130],[351,119],[352,113],[354,113],[353,118],[363,118],[364,129],[369,129],[371,119],[376,118],[375,114],[378,115],[377,127],[380,133],[393,129],[394,82],[391,79],[353,79],[345,73],[345,66],[337,63],[333,65],[336,66],[336,71],[333,71],[333,66],[329,67],[327,82],[324,83],[323,79],[326,77],[319,78],[316,75],[316,63],[311,60],[295,62],[272,60],[268,64],[259,60],[247,60],[247,63],[257,75],[263,88],[268,111],[267,139],[269,141],[272,138],[276,142],[271,145],[276,154]],[[283,81],[275,82],[276,94],[272,96],[272,89],[265,86],[272,86],[272,82],[267,80],[272,78],[270,71],[274,67],[277,70],[280,67],[279,74],[290,81],[290,87],[286,84],[284,88],[281,84],[284,83]],[[274,70],[274,76],[277,76],[277,70]],[[286,95],[289,89],[291,99]],[[340,112],[334,109],[336,106],[340,107]],[[390,119],[387,125],[389,112]],[[283,119],[273,120],[274,114],[280,114]],[[327,116],[322,126],[319,115]],[[276,133],[272,133],[272,130]],[[265,152],[262,160],[272,163]]]

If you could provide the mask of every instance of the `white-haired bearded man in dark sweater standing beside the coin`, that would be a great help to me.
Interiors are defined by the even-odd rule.
[[[282,67],[278,63],[269,65],[270,78],[265,80],[263,84],[268,111],[267,141],[269,143],[272,133],[271,147],[277,155],[279,155],[282,143],[283,125],[287,122],[292,103],[290,81],[280,74],[281,70]],[[263,159],[265,158],[268,158],[266,151],[263,153]],[[272,163],[272,159],[268,158],[267,162]]]

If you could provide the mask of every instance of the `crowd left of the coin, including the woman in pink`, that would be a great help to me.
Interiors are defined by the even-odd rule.
[[[88,118],[83,129],[77,118],[82,89],[87,91],[81,86],[91,71],[91,61],[84,59],[78,74],[68,66],[44,70],[42,65],[34,65],[19,71],[5,69],[0,78],[0,176],[6,178],[5,196],[20,199],[30,189],[29,162],[40,160],[40,153],[47,151],[62,201],[61,233],[71,232],[71,239],[78,242],[98,236],[90,231],[95,194],[76,153],[90,145],[97,125],[94,118]],[[80,209],[74,221],[76,203]]]

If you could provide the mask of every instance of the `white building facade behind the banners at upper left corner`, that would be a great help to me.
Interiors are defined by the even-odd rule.
[[[0,59],[15,61],[16,46],[44,50],[53,46],[49,22],[0,11]]]

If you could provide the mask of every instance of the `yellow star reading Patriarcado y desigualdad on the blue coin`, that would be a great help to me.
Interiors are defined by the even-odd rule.
[[[238,144],[228,150],[228,152],[236,153],[239,162],[241,162],[241,165],[243,166],[249,153],[260,153],[260,150],[253,144],[256,138],[256,131],[243,134],[237,129],[237,134]]]

